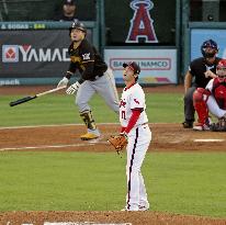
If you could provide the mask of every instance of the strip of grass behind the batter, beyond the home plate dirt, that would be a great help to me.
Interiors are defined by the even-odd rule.
[[[10,108],[9,102],[22,95],[3,95],[0,102],[0,126],[81,123],[74,97],[46,95],[31,102]],[[168,93],[146,94],[147,113],[150,122],[182,122],[182,95]],[[117,115],[112,112],[99,95],[90,103],[98,123],[118,123]],[[106,117],[108,115],[108,117]]]

